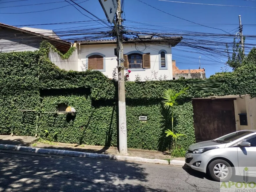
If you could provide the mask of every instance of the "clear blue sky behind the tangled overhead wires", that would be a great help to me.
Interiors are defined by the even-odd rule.
[[[9,2],[16,1],[16,2]],[[80,3],[85,0],[76,0],[75,2]],[[214,28],[222,29],[224,31],[232,31],[239,26],[238,15],[242,17],[243,34],[244,35],[256,35],[256,9],[254,8],[243,8],[243,7],[228,7],[228,6],[212,6],[212,5],[198,5],[198,4],[183,4],[174,3],[158,0],[141,0],[147,4],[150,4],[162,11],[169,14],[182,17],[193,21],[195,23],[204,24],[206,26],[211,26]],[[177,0],[182,2],[192,2],[192,3],[203,3],[203,4],[222,4],[222,5],[234,5],[234,6],[248,6],[256,7],[256,0]],[[8,3],[6,3],[8,2]],[[58,2],[51,4],[43,4],[50,2]],[[30,4],[40,4],[33,6],[21,6]],[[86,16],[82,15],[73,6],[69,5],[64,0],[0,0],[0,22],[9,25],[29,25],[29,24],[47,24],[47,23],[60,23],[60,22],[73,22],[73,21],[85,21],[90,20]],[[98,0],[88,0],[81,4],[82,7],[99,17],[100,19],[105,19],[104,12],[99,4]],[[18,7],[11,7],[18,6]],[[66,6],[60,9],[62,6]],[[4,8],[7,7],[7,8]],[[4,13],[24,13],[32,11],[42,11],[46,9],[54,9],[50,11],[27,13],[27,14],[4,14]],[[82,13],[93,18],[85,11],[81,10]],[[182,33],[182,31],[194,31],[200,33],[215,33],[215,34],[225,34],[223,31],[218,29],[207,28],[204,26],[192,24],[188,21],[178,19],[176,17],[165,14],[161,11],[153,9],[137,0],[124,0],[124,13],[125,19],[131,21],[142,22],[145,24],[156,25],[159,27],[172,28],[173,31],[177,30],[177,33]],[[95,18],[94,18],[95,19]],[[95,22],[94,22],[95,23]],[[228,24],[228,25],[227,25]],[[249,25],[254,24],[254,25]],[[41,25],[41,26],[31,26],[41,29],[61,29],[68,27],[85,26],[87,24],[61,24],[61,25]],[[96,24],[95,27],[99,27]],[[131,23],[128,21],[124,22],[124,26],[127,27],[143,27],[142,24]],[[92,26],[94,27],[94,26]],[[150,28],[150,26],[147,26]],[[155,28],[155,26],[154,26]],[[68,29],[66,29],[68,30]],[[179,30],[179,31],[178,31]],[[232,31],[233,33],[234,31]],[[223,39],[215,39],[214,41],[223,41]],[[232,39],[228,39],[232,41]],[[246,43],[255,44],[255,40],[247,40]],[[215,47],[218,49],[217,47]],[[182,47],[177,45],[173,48],[172,54],[173,59],[176,60],[179,69],[197,69],[199,67],[199,59],[201,56],[201,67],[205,68],[206,76],[209,77],[215,72],[220,72],[221,67],[224,66],[221,62],[225,63],[226,57],[221,56],[210,56],[206,52],[191,53],[193,50],[189,47]],[[197,51],[192,51],[197,52]],[[206,61],[207,60],[207,61]]]

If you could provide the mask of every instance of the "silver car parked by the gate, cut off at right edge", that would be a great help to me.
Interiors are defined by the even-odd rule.
[[[195,143],[189,146],[185,158],[187,166],[209,173],[215,181],[228,181],[232,175],[243,176],[245,167],[256,167],[256,130],[236,131]],[[256,171],[248,176],[255,177]]]

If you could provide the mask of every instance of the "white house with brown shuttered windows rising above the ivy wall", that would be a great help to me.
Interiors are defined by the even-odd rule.
[[[172,47],[177,45],[182,37],[127,39],[124,41],[124,66],[130,70],[129,80],[163,78],[171,80]],[[99,70],[112,78],[113,70],[117,69],[115,39],[87,40],[74,43],[76,51],[67,60],[62,60],[54,52],[49,53],[50,60],[59,68],[82,71],[83,69]]]

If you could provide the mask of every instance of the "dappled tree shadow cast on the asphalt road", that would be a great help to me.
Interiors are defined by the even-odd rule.
[[[128,161],[0,152],[0,191],[163,191]]]

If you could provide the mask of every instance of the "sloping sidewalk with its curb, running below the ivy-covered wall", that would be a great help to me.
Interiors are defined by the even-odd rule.
[[[116,147],[89,146],[89,145],[57,143],[57,142],[48,142],[43,140],[38,141],[38,140],[39,138],[35,138],[35,137],[1,136],[0,135],[0,144],[30,146],[30,149],[28,147],[24,149],[30,150],[32,152],[38,151],[34,149],[39,148],[41,149],[41,151],[46,151],[46,149],[49,149],[48,151],[46,151],[46,153],[48,154],[51,154],[52,151],[55,151],[53,152],[54,154],[56,154],[56,151],[59,151],[58,153],[63,153],[63,151],[74,151],[74,152],[77,152],[77,154],[82,154],[82,153],[86,153],[87,155],[92,154],[92,155],[89,155],[89,156],[92,156],[92,158],[94,157],[101,158],[102,155],[100,154],[104,154],[105,155],[105,156],[103,155],[104,157],[108,156],[110,159],[117,159],[117,160],[130,159],[131,161],[139,161],[139,162],[154,162],[153,160],[156,160],[155,162],[169,162],[169,164],[172,164],[172,165],[173,164],[175,165],[175,162],[177,162],[177,165],[181,165],[183,162],[185,163],[184,161],[185,158],[172,158],[167,152],[128,148],[128,154],[120,155]],[[12,148],[12,150],[15,148],[14,146],[8,146],[8,147]],[[4,149],[3,146],[1,148]],[[15,150],[20,150],[20,147],[16,147]],[[71,152],[70,154],[73,154],[73,153]],[[82,156],[85,156],[85,154]]]

